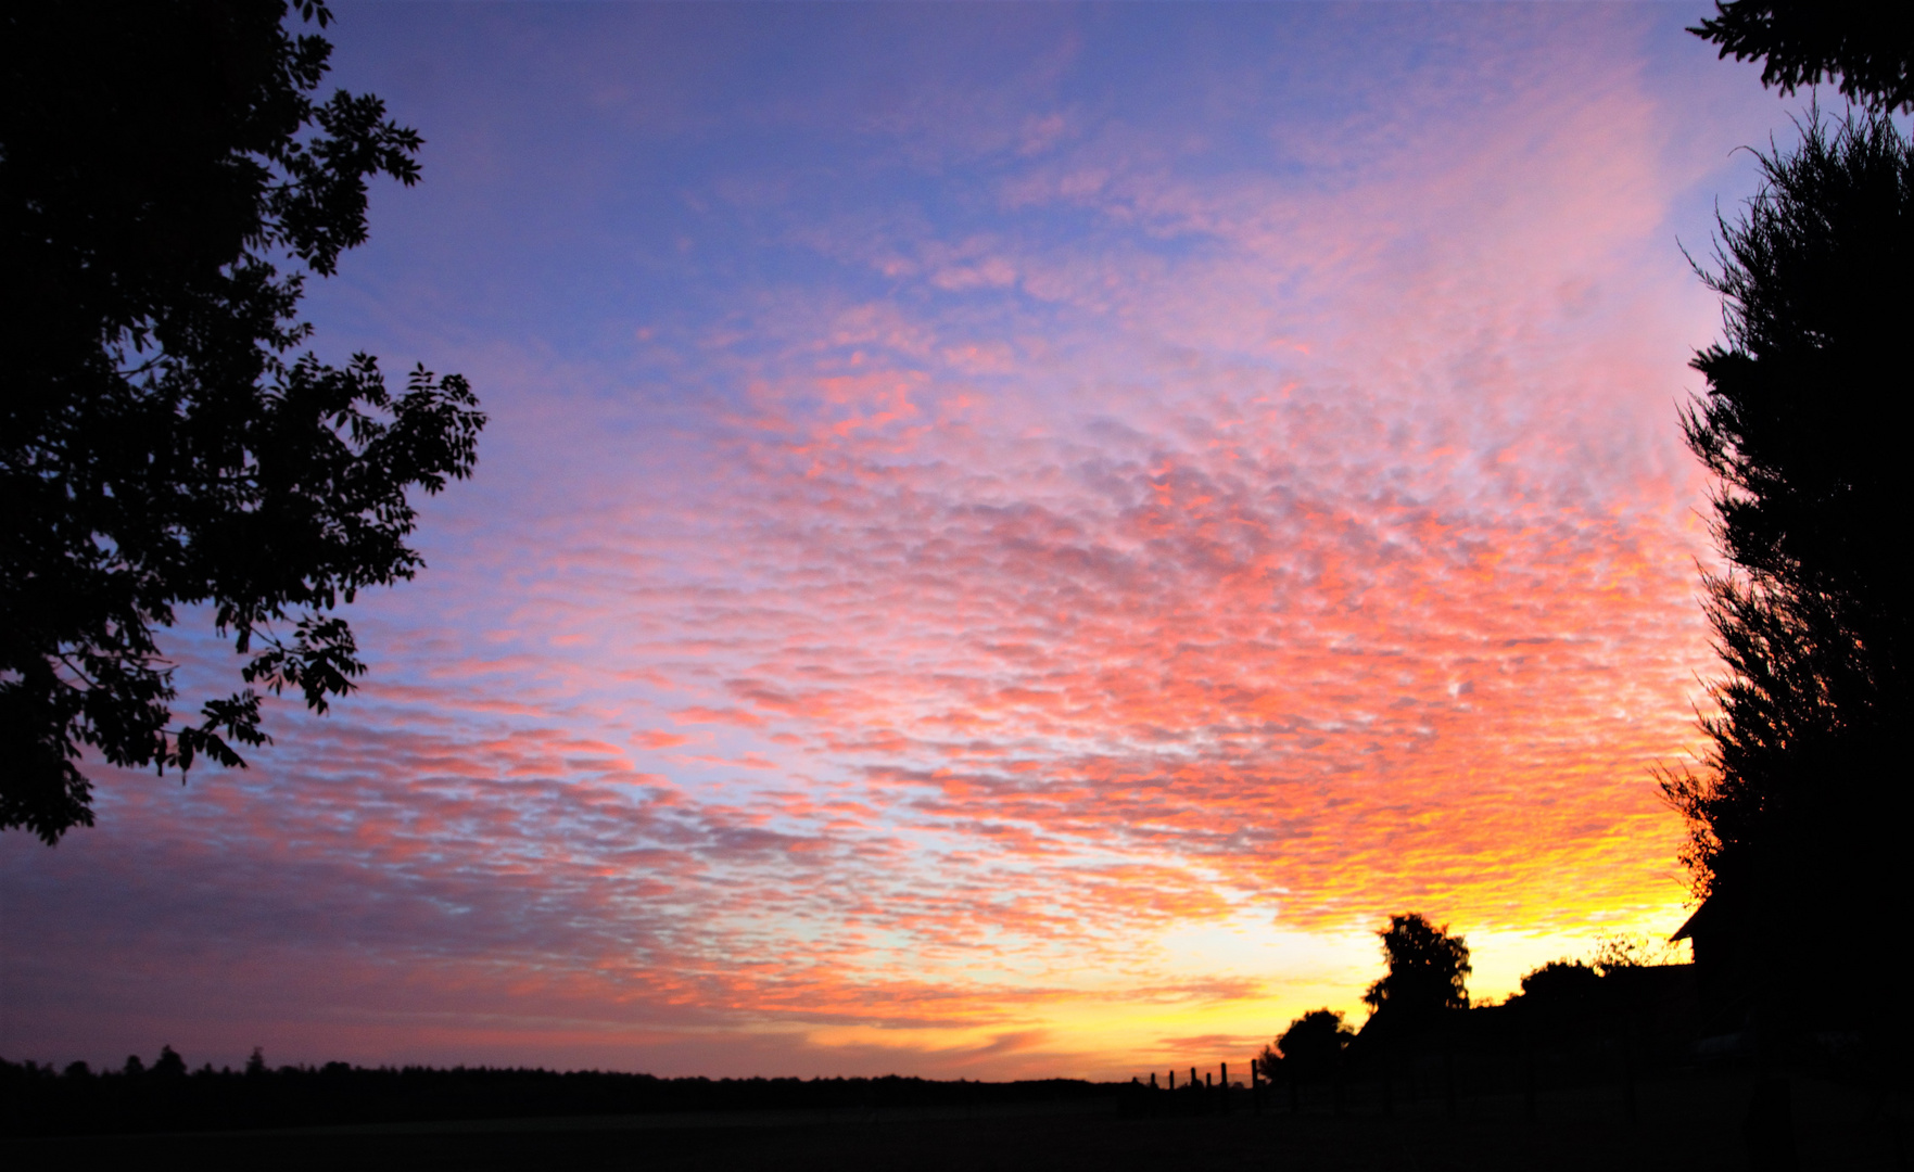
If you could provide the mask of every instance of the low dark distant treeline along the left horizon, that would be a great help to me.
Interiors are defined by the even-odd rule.
[[[649,1115],[666,1111],[896,1111],[1110,1097],[1074,1078],[936,1082],[928,1078],[657,1078],[609,1071],[494,1067],[188,1071],[168,1048],[147,1069],[63,1071],[0,1059],[0,1134],[84,1136],[249,1128]]]

